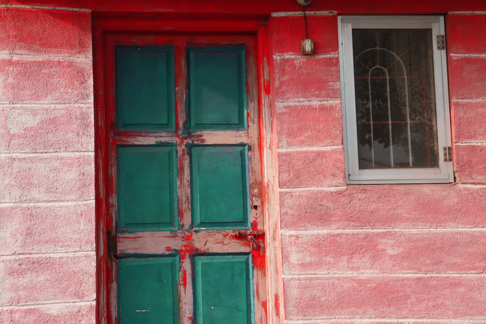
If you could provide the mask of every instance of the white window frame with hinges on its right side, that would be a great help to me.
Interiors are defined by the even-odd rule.
[[[438,50],[436,35],[445,34],[442,16],[339,16],[339,62],[346,180],[348,184],[407,184],[454,182],[452,162],[444,161],[443,147],[451,147],[451,119],[447,83],[446,51]],[[367,169],[358,164],[358,139],[354,87],[353,29],[432,29],[434,84],[437,117],[438,168]]]

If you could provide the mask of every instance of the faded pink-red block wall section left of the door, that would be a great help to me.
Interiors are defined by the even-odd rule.
[[[94,323],[91,15],[0,20],[0,323]]]

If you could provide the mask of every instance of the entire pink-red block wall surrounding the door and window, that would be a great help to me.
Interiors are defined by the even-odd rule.
[[[270,17],[287,323],[485,323],[486,5],[329,2],[302,56],[295,0],[0,0],[0,323],[95,322],[85,9]],[[337,14],[359,13],[445,14],[456,183],[346,185]]]

